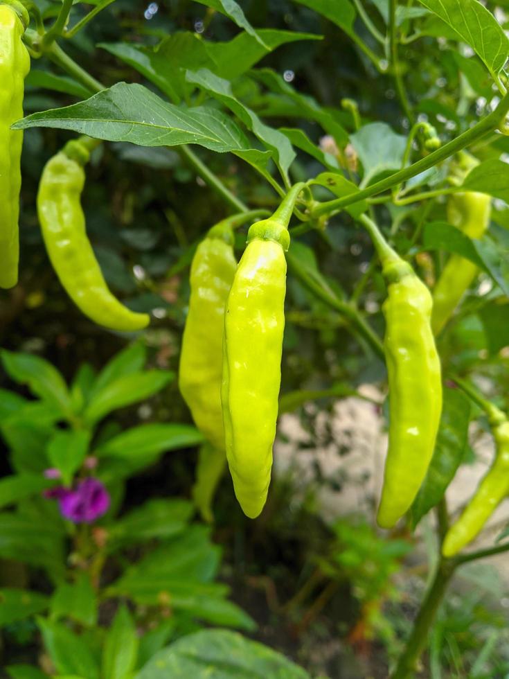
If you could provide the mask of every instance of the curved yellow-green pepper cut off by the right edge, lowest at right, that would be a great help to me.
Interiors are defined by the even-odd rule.
[[[492,467],[461,517],[447,531],[442,547],[444,556],[454,556],[471,543],[509,493],[509,422],[500,411],[498,415],[492,418],[496,449]]]

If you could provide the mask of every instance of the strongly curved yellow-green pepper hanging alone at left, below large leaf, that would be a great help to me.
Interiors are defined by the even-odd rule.
[[[111,330],[140,330],[148,325],[149,316],[130,311],[111,294],[87,238],[81,194],[88,157],[84,143],[69,142],[44,167],[37,214],[46,250],[67,294],[84,315]]]

